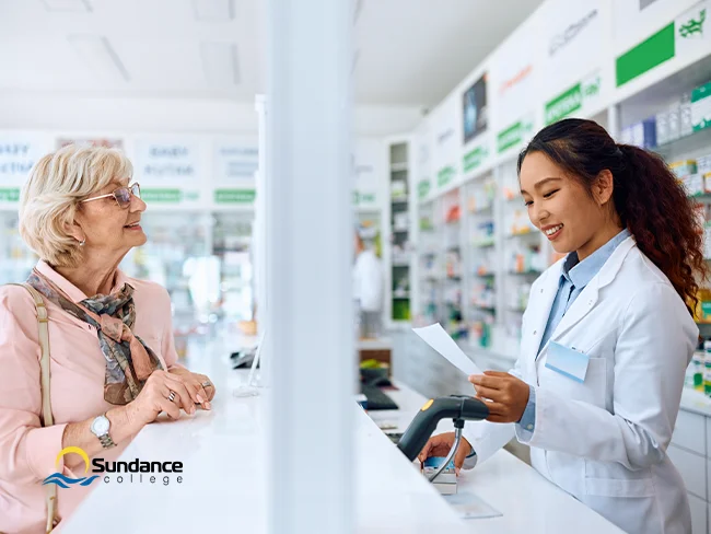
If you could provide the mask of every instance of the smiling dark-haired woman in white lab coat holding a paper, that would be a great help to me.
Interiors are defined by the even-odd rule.
[[[626,532],[690,533],[666,455],[706,275],[686,194],[661,159],[581,119],[538,132],[518,177],[532,223],[567,257],[533,285],[514,369],[469,378],[491,415],[465,428],[455,464],[515,437],[541,475]],[[432,437],[420,460],[453,440]]]

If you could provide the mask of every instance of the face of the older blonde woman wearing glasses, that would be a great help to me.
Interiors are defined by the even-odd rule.
[[[128,178],[115,179],[89,198],[112,194],[128,186]],[[110,196],[90,202],[81,202],[74,218],[72,234],[78,241],[85,239],[84,254],[101,255],[107,260],[123,258],[135,246],[141,246],[147,237],[140,225],[145,202],[131,195],[127,208],[121,208]]]

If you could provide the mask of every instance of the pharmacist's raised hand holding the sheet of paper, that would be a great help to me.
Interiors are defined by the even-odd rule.
[[[492,422],[517,422],[521,420],[531,390],[523,380],[499,371],[473,374],[469,382],[477,392],[476,398],[489,407],[487,420]]]

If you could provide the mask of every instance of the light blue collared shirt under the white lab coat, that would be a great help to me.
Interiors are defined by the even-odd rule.
[[[540,339],[536,358],[538,358],[538,355],[553,332],[556,332],[558,324],[571,304],[578,299],[578,295],[585,289],[585,286],[590,283],[593,277],[599,272],[599,269],[603,268],[603,265],[609,259],[617,246],[630,235],[629,230],[622,230],[582,262],[578,260],[576,252],[571,252],[566,257],[560,280],[558,281],[558,293],[556,293],[556,300],[550,309],[548,323],[546,324],[544,336]],[[517,425],[521,426],[522,431],[533,432],[536,428],[536,390],[532,385],[528,388],[528,404]]]

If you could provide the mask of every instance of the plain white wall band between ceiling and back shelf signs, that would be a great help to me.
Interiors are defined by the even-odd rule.
[[[384,137],[411,130],[417,107],[358,106],[356,135]],[[98,98],[70,95],[0,95],[0,129],[126,132],[257,134],[253,103],[225,100]]]

